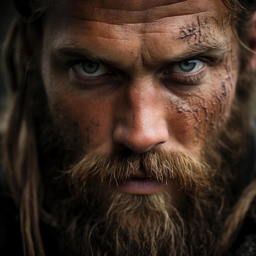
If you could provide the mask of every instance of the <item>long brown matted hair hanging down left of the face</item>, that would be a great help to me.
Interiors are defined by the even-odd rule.
[[[40,170],[35,125],[32,108],[29,106],[31,102],[26,90],[30,58],[21,56],[23,50],[20,38],[23,31],[20,20],[17,19],[5,42],[5,67],[11,99],[4,136],[4,168],[13,200],[20,211],[24,255],[43,256],[38,220]]]

